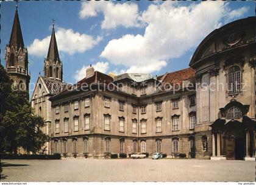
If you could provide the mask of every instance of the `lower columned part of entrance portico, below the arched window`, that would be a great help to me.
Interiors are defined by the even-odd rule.
[[[217,119],[212,125],[213,160],[255,160],[255,122]]]

